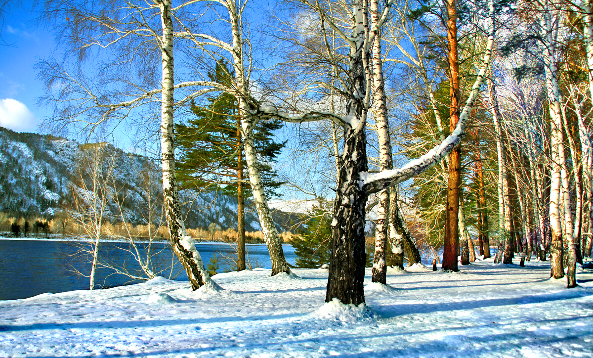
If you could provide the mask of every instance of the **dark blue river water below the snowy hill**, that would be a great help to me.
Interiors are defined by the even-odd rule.
[[[88,275],[91,271],[91,257],[79,253],[79,243],[48,240],[0,240],[0,300],[23,299],[37,294],[88,290],[89,278],[74,273]],[[141,245],[142,246],[142,245]],[[266,245],[246,245],[248,259],[253,267],[271,268],[270,256]],[[218,273],[230,271],[234,249],[225,244],[199,244],[197,250],[205,265],[216,255]],[[286,260],[295,263],[294,248],[283,245]],[[110,264],[126,267],[134,274],[140,267],[133,259],[126,243],[103,243],[99,255]],[[183,268],[174,258],[173,252],[163,243],[153,244],[152,252],[155,266],[168,270],[161,276],[174,280],[187,281]],[[171,262],[174,262],[171,270]],[[95,275],[95,288],[114,287],[123,284],[138,283],[129,277],[116,274],[109,268],[99,268]]]

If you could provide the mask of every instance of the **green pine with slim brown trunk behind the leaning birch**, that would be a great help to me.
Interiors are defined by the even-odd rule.
[[[227,63],[216,63],[215,72],[209,72],[211,81],[232,87],[234,73]],[[205,106],[192,102],[196,115],[186,124],[176,125],[177,179],[180,189],[197,191],[218,191],[226,195],[237,195],[238,206],[238,262],[237,270],[245,270],[245,214],[244,196],[251,196],[250,188],[244,185],[248,180],[246,160],[243,155],[241,119],[237,115],[237,99],[228,93],[209,97]],[[275,180],[273,169],[276,158],[286,142],[273,140],[273,132],[282,127],[280,121],[260,121],[253,130],[254,141],[260,158],[260,170],[266,194],[279,196],[276,189],[282,182]]]

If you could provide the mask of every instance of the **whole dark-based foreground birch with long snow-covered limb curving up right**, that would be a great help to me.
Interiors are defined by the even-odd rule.
[[[486,70],[490,61],[493,37],[494,5],[489,3],[488,42],[484,51],[483,63],[472,87],[466,105],[460,115],[460,121],[449,137],[428,153],[407,163],[399,169],[369,173],[366,159],[366,116],[370,108],[371,73],[369,66],[370,46],[375,34],[368,23],[369,8],[364,1],[353,2],[352,32],[345,33],[327,16],[327,11],[318,3],[303,1],[315,9],[329,26],[340,34],[349,47],[348,77],[342,92],[346,94],[346,115],[311,111],[307,113],[285,113],[274,107],[260,107],[257,118],[278,118],[286,122],[307,122],[329,119],[344,128],[344,150],[340,156],[340,175],[334,201],[332,226],[332,255],[327,284],[326,302],[339,299],[340,302],[354,305],[364,303],[364,224],[365,202],[369,194],[396,185],[412,178],[417,173],[428,169],[457,146],[464,134],[467,118],[479,95]],[[391,2],[382,11],[377,28],[381,28],[387,17]]]

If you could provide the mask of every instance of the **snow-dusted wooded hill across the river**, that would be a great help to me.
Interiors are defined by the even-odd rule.
[[[116,158],[114,178],[120,197],[125,197],[124,211],[127,220],[145,224],[147,197],[142,181],[146,170],[155,173],[158,183],[158,165],[151,159],[137,154],[124,153],[109,144],[108,156]],[[76,141],[52,135],[17,133],[0,127],[0,211],[9,216],[53,217],[71,201],[72,186],[81,192],[76,173],[81,153],[91,151],[96,145],[79,144]],[[208,227],[217,223],[222,229],[237,226],[237,199],[227,195],[206,193],[196,197],[192,192],[182,193],[187,227]],[[119,215],[115,202],[109,210]],[[296,216],[277,213],[280,230],[286,229],[283,221]],[[297,218],[298,219],[298,218]],[[253,208],[246,208],[246,230],[260,229]]]

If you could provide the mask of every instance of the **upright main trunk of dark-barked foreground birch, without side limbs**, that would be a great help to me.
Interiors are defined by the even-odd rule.
[[[349,90],[344,128],[344,151],[340,158],[340,175],[331,223],[331,256],[326,302],[334,298],[344,304],[365,303],[364,274],[365,206],[368,194],[359,185],[359,173],[368,170],[366,162],[366,97],[368,93],[369,50],[367,9],[356,0],[353,11],[350,46]]]

